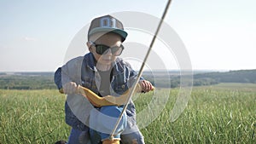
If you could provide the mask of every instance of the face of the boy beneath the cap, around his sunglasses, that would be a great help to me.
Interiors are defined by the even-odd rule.
[[[102,55],[96,52],[96,45],[103,44],[108,47],[120,47],[121,37],[115,33],[107,33],[102,35],[102,33],[96,33],[90,37],[92,43],[87,43],[90,52],[94,55],[97,60],[97,64],[111,65],[111,63],[116,59],[116,55],[112,53],[110,49],[106,50]]]

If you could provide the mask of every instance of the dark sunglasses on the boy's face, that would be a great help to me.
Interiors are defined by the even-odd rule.
[[[108,49],[110,49],[112,55],[118,56],[118,55],[121,55],[122,51],[125,49],[122,44],[120,46],[109,47],[108,45],[104,45],[104,44],[96,44],[94,42],[90,42],[90,43],[96,47],[96,53],[98,55],[106,54],[108,52]]]

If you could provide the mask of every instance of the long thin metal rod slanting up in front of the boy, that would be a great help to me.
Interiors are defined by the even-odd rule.
[[[156,32],[154,33],[154,37],[153,37],[153,39],[152,39],[152,41],[151,41],[151,43],[150,43],[150,45],[149,45],[148,52],[147,52],[147,54],[145,55],[145,58],[144,58],[144,60],[143,60],[143,64],[142,64],[142,66],[141,66],[141,68],[140,68],[140,71],[139,71],[138,74],[137,74],[137,79],[136,79],[135,83],[132,85],[131,90],[130,90],[130,92],[129,92],[129,96],[128,96],[128,98],[127,98],[126,101],[125,101],[125,107],[123,108],[123,111],[120,113],[119,118],[118,118],[118,121],[116,122],[116,124],[115,124],[115,126],[114,126],[114,128],[113,128],[113,130],[112,130],[112,132],[111,132],[111,134],[110,134],[110,136],[109,136],[110,139],[113,139],[113,134],[114,134],[115,130],[117,130],[117,128],[118,128],[118,125],[119,125],[119,123],[120,123],[120,121],[121,121],[121,118],[122,118],[124,112],[125,112],[126,109],[127,109],[127,106],[128,106],[129,101],[131,101],[131,96],[132,96],[132,95],[134,94],[134,92],[135,92],[135,89],[136,89],[136,86],[137,86],[137,84],[138,84],[138,82],[139,82],[139,79],[142,77],[143,68],[144,68],[144,66],[145,66],[146,61],[148,60],[148,55],[150,54],[150,51],[151,51],[151,49],[152,49],[152,47],[153,47],[154,41],[155,41],[155,39],[156,39],[156,36],[158,35],[158,32],[160,31],[160,26],[162,25],[162,23],[163,23],[163,21],[164,21],[164,19],[165,19],[165,17],[166,17],[166,13],[167,13],[167,10],[169,9],[169,6],[170,6],[171,2],[172,2],[172,0],[168,0],[168,3],[166,4],[166,9],[165,9],[164,13],[162,14],[162,17],[161,17],[161,19],[160,19],[160,23],[158,24],[157,29],[156,29]]]

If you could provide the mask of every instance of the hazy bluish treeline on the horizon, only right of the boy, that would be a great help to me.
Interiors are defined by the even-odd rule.
[[[150,75],[145,72],[144,78],[148,79],[151,83],[156,80],[160,83],[157,84],[161,88],[176,88],[180,86],[181,76],[177,72],[172,73],[169,77],[161,75]],[[154,72],[155,73],[155,72]],[[193,76],[193,86],[212,85],[219,83],[252,83],[256,84],[256,70],[239,70],[230,72],[200,72]]]

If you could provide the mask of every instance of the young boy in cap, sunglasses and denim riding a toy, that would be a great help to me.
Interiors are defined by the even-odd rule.
[[[58,89],[63,89],[67,95],[73,95],[77,93],[78,87],[81,85],[102,97],[123,95],[127,89],[131,88],[137,75],[127,62],[118,58],[124,50],[122,43],[126,37],[127,32],[124,31],[123,24],[113,16],[104,15],[92,20],[87,42],[90,53],[69,60],[66,65],[57,69],[55,84]],[[140,79],[139,85],[143,92],[153,89],[152,84],[143,78]],[[119,111],[122,107],[112,108]],[[95,109],[102,112],[103,108],[95,106]],[[84,114],[88,117],[91,111],[89,108],[84,108]],[[101,141],[103,144],[119,143],[119,135],[110,140],[101,132],[90,129],[90,125],[88,127],[88,124],[81,122],[73,113],[72,106],[68,101],[65,104],[65,112],[66,123],[72,126],[67,143],[86,143],[89,137],[92,143]],[[127,126],[123,127],[125,130],[121,130],[124,131],[120,135],[121,142],[144,143],[143,135],[137,128],[136,112],[132,101],[128,104],[125,117],[128,122]],[[96,135],[100,135],[100,140],[96,138]]]

